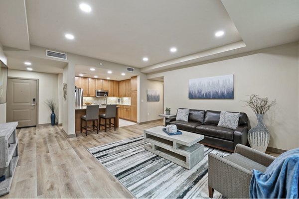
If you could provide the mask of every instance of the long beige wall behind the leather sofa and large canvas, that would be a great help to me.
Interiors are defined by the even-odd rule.
[[[234,100],[189,100],[188,80],[234,75]],[[256,116],[241,100],[251,94],[277,100],[265,114],[271,133],[269,146],[289,150],[299,147],[299,43],[263,49],[221,61],[149,75],[164,76],[164,106],[241,111],[249,116],[251,126]]]

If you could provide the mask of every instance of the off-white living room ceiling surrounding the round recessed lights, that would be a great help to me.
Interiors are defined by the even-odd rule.
[[[91,13],[79,9],[83,1]],[[152,73],[298,41],[298,10],[299,0],[1,0],[0,42],[25,50],[30,43]],[[224,36],[216,38],[218,30]],[[65,33],[75,39],[65,39]],[[13,59],[19,58],[7,57],[9,68],[24,67]]]

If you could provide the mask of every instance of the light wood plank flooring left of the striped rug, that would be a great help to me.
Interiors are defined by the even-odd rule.
[[[156,121],[65,138],[61,126],[19,130],[19,161],[10,193],[0,198],[134,198],[87,151],[88,148],[143,135]]]

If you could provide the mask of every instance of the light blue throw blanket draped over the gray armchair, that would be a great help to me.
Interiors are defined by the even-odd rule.
[[[251,199],[298,199],[299,148],[276,158],[265,173],[252,170],[249,196]]]

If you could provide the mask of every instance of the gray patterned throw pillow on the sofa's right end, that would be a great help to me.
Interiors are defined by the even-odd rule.
[[[218,126],[236,129],[238,127],[240,113],[221,111]]]

